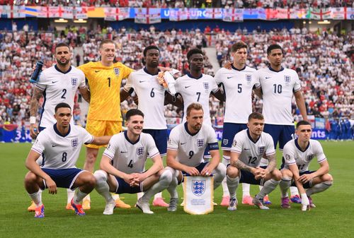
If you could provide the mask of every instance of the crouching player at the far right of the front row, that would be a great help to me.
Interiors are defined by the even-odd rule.
[[[290,208],[287,189],[292,184],[297,186],[302,198],[302,210],[315,208],[312,203],[312,194],[317,194],[328,189],[333,184],[333,178],[329,174],[329,163],[324,155],[324,150],[318,141],[311,138],[312,128],[308,121],[299,121],[296,127],[297,138],[285,144],[283,157],[285,165],[282,165],[282,208]],[[309,163],[317,158],[320,168],[316,171],[309,170]],[[305,192],[305,189],[307,191]]]

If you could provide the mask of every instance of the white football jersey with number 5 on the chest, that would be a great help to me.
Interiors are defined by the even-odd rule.
[[[256,79],[252,73],[256,69],[245,66],[238,70],[232,67],[219,69],[215,74],[217,85],[222,83],[226,96],[224,122],[246,124],[252,113],[252,90]]]

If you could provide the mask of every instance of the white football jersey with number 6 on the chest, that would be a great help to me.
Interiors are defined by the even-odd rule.
[[[126,90],[134,88],[139,104],[137,109],[144,113],[144,129],[162,130],[167,129],[164,115],[165,88],[157,81],[157,75],[140,69],[130,73]]]

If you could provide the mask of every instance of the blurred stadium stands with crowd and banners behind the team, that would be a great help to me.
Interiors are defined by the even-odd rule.
[[[30,141],[28,78],[36,61],[54,64],[58,42],[72,47],[74,66],[97,61],[105,38],[117,42],[116,60],[133,69],[143,67],[144,47],[156,44],[161,66],[182,74],[188,72],[186,52],[200,47],[206,55],[204,73],[211,75],[229,59],[234,42],[249,44],[247,64],[256,69],[266,66],[265,49],[277,42],[285,49],[283,65],[302,80],[313,138],[353,139],[352,5],[346,0],[0,0],[0,141]],[[253,106],[261,111],[262,100],[255,98]],[[123,114],[131,107],[134,102],[125,101]],[[224,107],[212,97],[210,107],[221,138]],[[76,124],[85,126],[87,109],[78,95]],[[292,112],[299,120],[295,104]],[[166,106],[171,127],[181,113]]]

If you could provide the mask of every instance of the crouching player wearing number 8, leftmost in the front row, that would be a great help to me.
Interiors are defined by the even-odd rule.
[[[47,188],[50,194],[57,194],[57,187],[77,189],[71,201],[77,215],[85,215],[81,206],[82,199],[96,185],[90,172],[76,168],[82,144],[106,145],[110,136],[95,137],[80,126],[71,126],[72,110],[67,103],[55,107],[57,123],[44,129],[37,137],[25,161],[30,170],[25,176],[25,189],[35,203],[35,218],[44,218],[40,189]],[[42,165],[36,160],[42,155]]]

